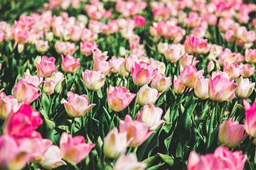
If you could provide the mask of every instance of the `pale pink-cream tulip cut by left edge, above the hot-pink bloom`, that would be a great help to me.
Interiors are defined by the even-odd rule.
[[[4,92],[0,93],[0,119],[6,119],[12,111],[18,111],[19,106],[14,96],[6,96]]]

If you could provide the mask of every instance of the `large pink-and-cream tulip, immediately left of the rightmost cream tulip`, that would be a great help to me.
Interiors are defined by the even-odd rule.
[[[230,101],[235,97],[235,89],[238,84],[234,80],[228,79],[225,74],[218,74],[216,77],[209,76],[209,98],[212,101]]]

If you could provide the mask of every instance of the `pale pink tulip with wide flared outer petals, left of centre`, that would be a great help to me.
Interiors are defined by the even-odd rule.
[[[64,104],[65,111],[71,117],[81,117],[96,105],[95,103],[89,105],[89,98],[85,94],[78,95],[68,91],[67,96],[68,101],[63,98],[60,103]]]

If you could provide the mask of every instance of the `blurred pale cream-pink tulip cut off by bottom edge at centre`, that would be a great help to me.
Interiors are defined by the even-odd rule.
[[[138,162],[136,154],[122,155],[117,159],[116,164],[114,164],[113,170],[144,170],[146,169],[146,164]]]

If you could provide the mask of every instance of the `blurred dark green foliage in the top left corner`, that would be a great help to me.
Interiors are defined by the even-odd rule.
[[[40,11],[47,0],[0,0],[0,21],[14,22],[22,13]]]

